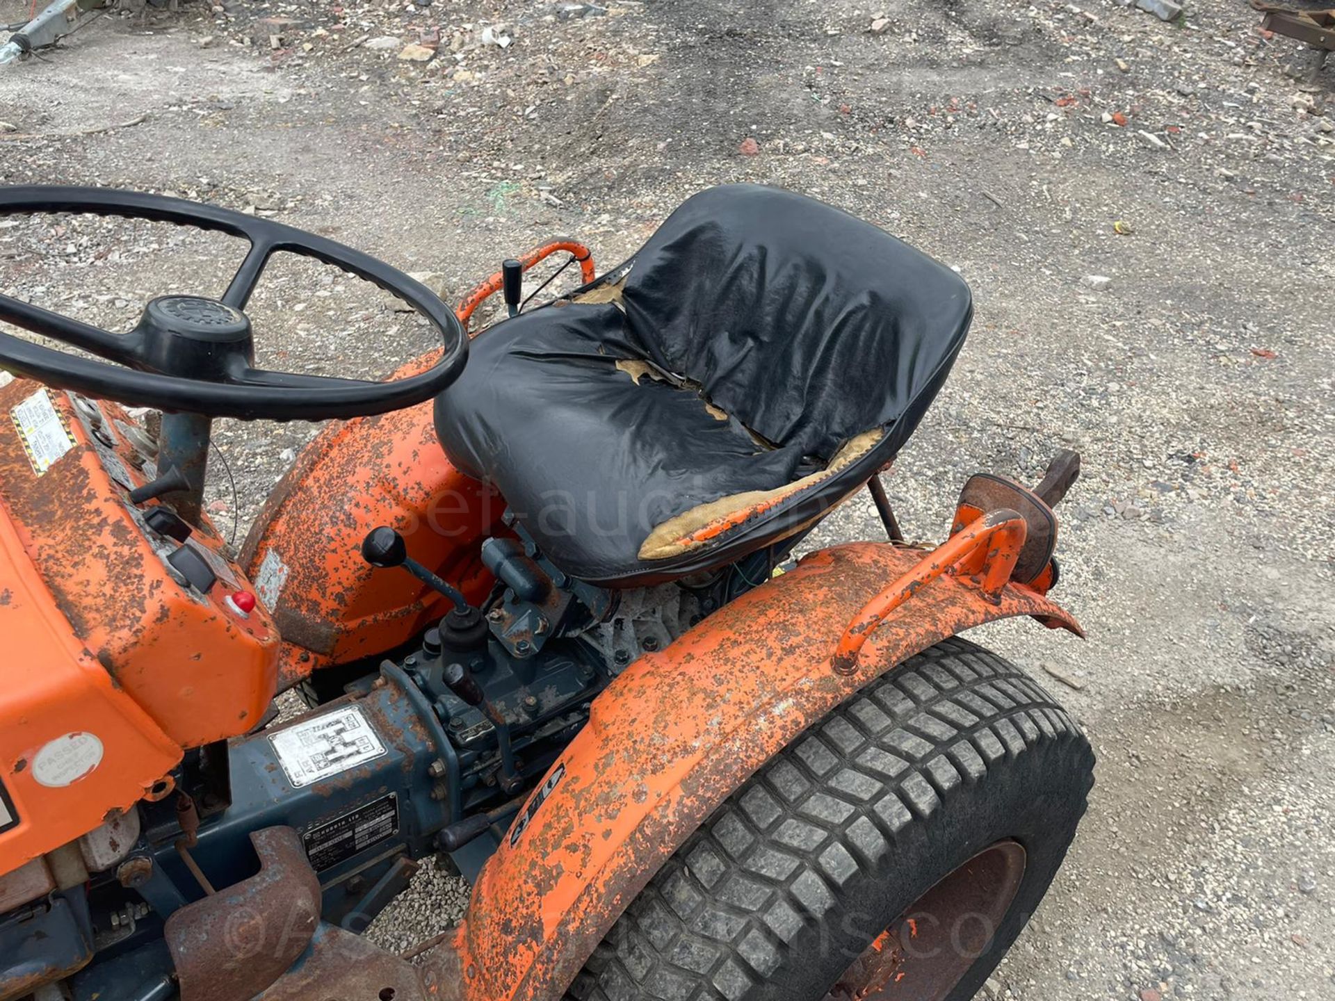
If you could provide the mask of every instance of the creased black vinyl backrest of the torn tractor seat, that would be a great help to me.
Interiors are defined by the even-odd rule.
[[[964,343],[968,286],[885,231],[781,188],[686,200],[623,280],[627,334],[778,446],[893,456]]]

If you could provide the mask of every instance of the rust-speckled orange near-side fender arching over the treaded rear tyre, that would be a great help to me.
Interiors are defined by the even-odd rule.
[[[984,542],[1004,531],[988,530]],[[482,870],[453,942],[465,977],[442,992],[470,1001],[559,997],[617,916],[733,790],[913,654],[1011,615],[1080,633],[1028,587],[988,594],[973,579],[975,561],[956,553],[959,573],[924,575],[909,599],[864,630],[852,673],[836,670],[849,625],[930,555],[885,543],[814,553],[633,663],[547,773],[549,786],[559,778],[526,810],[527,826]]]

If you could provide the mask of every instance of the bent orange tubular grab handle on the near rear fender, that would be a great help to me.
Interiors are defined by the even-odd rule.
[[[1011,571],[1024,549],[1027,531],[1025,521],[1017,511],[1001,510],[985,514],[955,533],[862,606],[834,649],[834,671],[853,674],[862,646],[876,627],[939,577],[960,577],[975,585],[992,605],[1000,602],[1001,589],[1011,579]]]

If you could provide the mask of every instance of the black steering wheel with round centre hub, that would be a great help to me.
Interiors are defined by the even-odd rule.
[[[154,299],[128,334],[112,334],[0,295],[0,320],[105,362],[56,351],[0,332],[0,368],[64,390],[170,412],[246,420],[326,420],[400,410],[435,396],[463,370],[463,324],[421,282],[375,258],[268,219],[176,198],[112,188],[0,188],[0,216],[75,212],[151,219],[240,236],[250,251],[222,299]],[[255,368],[250,320],[242,312],[268,259],[315,258],[400,298],[435,327],[445,352],[431,368],[391,382],[336,379]],[[108,364],[115,362],[115,364]]]

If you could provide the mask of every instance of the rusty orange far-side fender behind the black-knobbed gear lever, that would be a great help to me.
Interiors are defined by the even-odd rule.
[[[431,403],[326,427],[275,487],[242,550],[283,634],[279,687],[391,650],[449,611],[411,574],[362,559],[371,529],[398,530],[414,559],[479,603],[493,585],[482,539],[501,531],[503,511],[494,490],[445,456]]]

